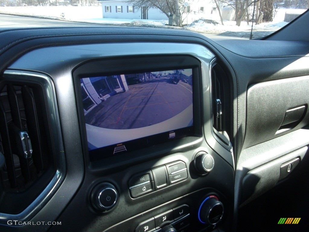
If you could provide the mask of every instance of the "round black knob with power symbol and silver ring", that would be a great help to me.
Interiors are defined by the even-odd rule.
[[[90,195],[93,208],[104,212],[113,208],[118,200],[118,193],[110,183],[104,182],[96,185]]]

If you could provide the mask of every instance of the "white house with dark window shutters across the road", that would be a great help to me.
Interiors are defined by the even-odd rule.
[[[168,20],[168,17],[159,9],[147,6],[134,7],[129,6],[122,0],[98,0],[102,4],[103,18],[113,19],[154,19]],[[188,0],[188,6],[180,9],[183,24],[192,23],[196,19],[213,19],[219,20],[219,14],[216,4],[212,0]]]

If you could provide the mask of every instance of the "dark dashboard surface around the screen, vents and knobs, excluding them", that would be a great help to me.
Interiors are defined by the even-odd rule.
[[[280,182],[282,164],[294,159],[299,159],[298,166],[306,164],[303,159],[306,158],[309,144],[306,139],[309,138],[306,127],[309,99],[304,94],[306,90],[303,83],[309,79],[308,42],[214,42],[193,32],[120,27],[2,29],[0,41],[0,81],[10,83],[10,79],[17,77],[19,81],[23,78],[35,81],[31,77],[33,75],[43,75],[52,81],[56,99],[54,107],[58,110],[54,116],[60,123],[59,131],[54,133],[61,134],[63,143],[63,151],[55,151],[55,157],[65,158],[63,162],[66,166],[55,191],[51,191],[52,194],[48,195],[44,204],[38,204],[29,213],[30,216],[1,214],[4,218],[0,224],[1,231],[138,231],[144,222],[150,226],[147,223],[152,218],[156,220],[159,216],[168,216],[167,213],[177,212],[179,207],[184,206],[186,209],[185,205],[189,206],[189,216],[177,221],[179,218],[176,219],[174,215],[170,223],[176,226],[179,226],[178,222],[185,223],[184,227],[179,228],[187,231],[212,231],[217,228],[233,231],[239,206],[244,202],[249,203]],[[201,74],[196,77],[196,84],[193,85],[195,134],[143,148],[129,153],[129,156],[119,155],[90,161],[81,123],[83,112],[78,105],[80,97],[76,93],[78,82],[73,71],[80,64],[93,60],[120,60],[125,56],[134,61],[141,56],[154,55],[192,56],[201,63]],[[141,67],[141,64],[137,67]],[[212,79],[216,75],[217,79]],[[295,77],[302,77],[304,82],[294,82]],[[301,96],[301,99],[298,99],[296,105],[293,105],[295,101],[292,100],[288,105],[286,102],[272,102],[277,104],[278,111],[283,111],[283,115],[275,111],[269,116],[268,113],[273,110],[272,105],[258,101],[265,96],[259,95],[259,91],[252,96],[248,90],[259,88],[258,84],[263,83],[270,89],[270,97],[278,96],[289,88],[280,83],[279,87],[273,85],[273,81],[280,79],[288,79],[294,88],[301,89],[301,95],[295,91],[295,96]],[[213,117],[217,112],[214,111],[213,102],[216,98],[213,95],[214,83],[217,81],[222,85],[221,101],[224,99],[224,129],[220,132],[214,128]],[[17,86],[21,85],[16,83]],[[6,96],[6,88],[9,87],[2,88],[2,96]],[[281,101],[280,97],[274,99]],[[291,126],[281,134],[269,135],[269,131],[278,130],[269,125],[269,131],[262,131],[259,134],[262,138],[255,143],[254,133],[259,131],[256,128],[260,127],[260,123],[268,123],[268,117],[273,115],[276,120],[283,121],[286,110],[299,105],[305,108],[302,117],[295,121],[299,127]],[[259,108],[265,109],[267,114],[261,114],[260,120],[255,121],[248,109],[258,112]],[[248,117],[252,120],[248,120]],[[270,152],[272,149],[276,152]],[[197,156],[201,153],[210,154],[214,163],[213,169],[205,174],[199,173],[196,164]],[[185,164],[182,171],[187,173],[187,177],[179,183],[170,181],[163,188],[157,186],[153,192],[132,197],[129,190],[132,186],[128,185],[132,177],[145,173],[155,176],[156,170],[165,170],[165,167],[168,172],[169,165],[175,162]],[[168,178],[171,173],[167,172]],[[254,181],[247,184],[252,176],[260,180],[253,178]],[[154,178],[154,183],[156,181]],[[99,212],[98,208],[93,207],[94,189],[100,183],[112,184],[118,193],[117,203],[106,212]],[[216,226],[205,226],[200,219],[201,208],[210,198],[220,200],[224,205],[222,219]],[[61,221],[61,225],[15,226],[5,223],[10,219]],[[155,224],[157,231],[162,225],[165,224]]]

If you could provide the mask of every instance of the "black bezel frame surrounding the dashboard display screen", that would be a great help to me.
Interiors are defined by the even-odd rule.
[[[134,57],[115,57],[108,59],[95,59],[84,62],[72,71],[74,79],[74,88],[76,96],[76,104],[78,108],[78,118],[81,132],[81,140],[83,144],[83,152],[88,154],[90,162],[107,159],[108,157],[122,156],[132,153],[138,153],[140,149],[147,149],[149,146],[141,146],[139,149],[125,153],[115,154],[111,156],[101,156],[98,148],[95,150],[88,150],[88,140],[85,124],[85,116],[83,111],[83,100],[81,93],[80,79],[95,76],[121,75],[130,73],[167,71],[175,69],[192,69],[193,78],[193,126],[186,137],[200,137],[201,131],[201,63],[197,58],[189,55],[156,55],[156,56],[134,56]],[[198,116],[200,115],[200,116]],[[163,132],[166,133],[166,132]],[[158,134],[157,134],[158,135]],[[156,135],[153,135],[156,136]],[[184,137],[185,138],[185,137]],[[142,138],[141,138],[142,139]],[[176,138],[175,140],[180,140]],[[140,139],[138,139],[140,140]],[[133,140],[134,141],[134,140]],[[128,142],[128,141],[127,141]],[[137,141],[135,141],[137,142]],[[171,143],[172,141],[164,141],[163,143]],[[121,142],[120,142],[121,143]],[[151,144],[150,146],[160,145],[162,143]],[[134,157],[134,155],[133,155]]]

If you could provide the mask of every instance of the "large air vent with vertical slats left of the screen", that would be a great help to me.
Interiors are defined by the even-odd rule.
[[[57,172],[59,144],[49,99],[53,92],[35,81],[40,78],[16,73],[5,73],[0,80],[0,149],[5,157],[0,170],[0,216],[23,212],[46,191]]]

